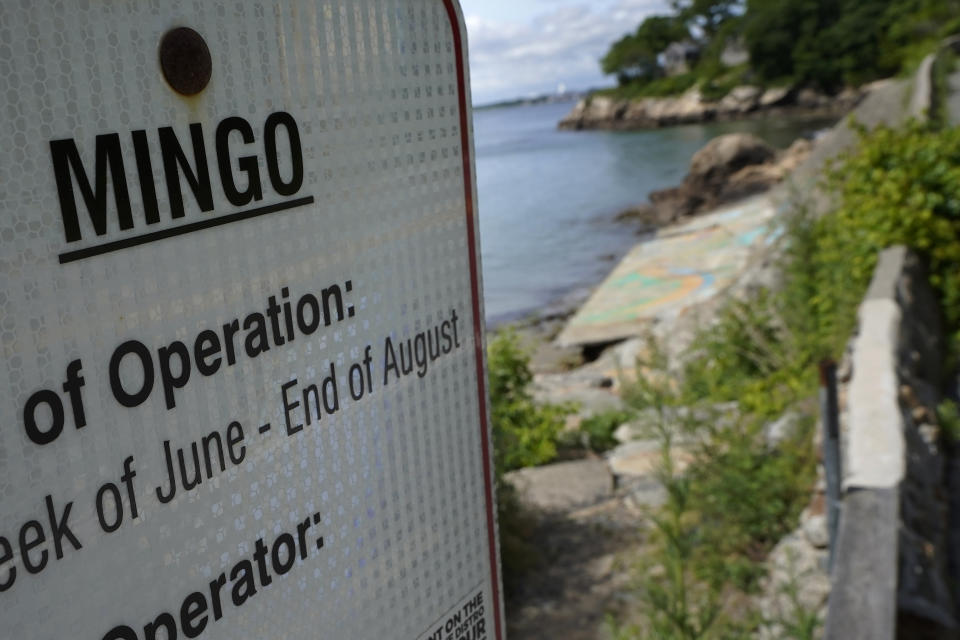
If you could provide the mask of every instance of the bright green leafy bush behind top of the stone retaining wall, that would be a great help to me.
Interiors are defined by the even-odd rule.
[[[960,128],[933,131],[912,123],[867,133],[829,176],[839,208],[817,223],[819,276],[812,303],[836,313],[831,294],[865,288],[877,253],[896,244],[923,255],[951,326],[960,321]]]

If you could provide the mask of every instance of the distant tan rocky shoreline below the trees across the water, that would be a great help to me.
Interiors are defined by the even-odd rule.
[[[837,117],[850,111],[867,87],[826,95],[812,89],[736,87],[720,100],[707,100],[698,87],[679,96],[634,100],[589,96],[577,102],[559,129],[657,129],[683,124],[767,117]]]

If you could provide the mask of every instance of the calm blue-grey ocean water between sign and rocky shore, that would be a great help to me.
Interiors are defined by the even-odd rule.
[[[557,131],[572,104],[474,111],[487,321],[582,297],[642,238],[614,220],[679,184],[711,138],[751,132],[778,148],[824,120],[743,121],[638,132]]]

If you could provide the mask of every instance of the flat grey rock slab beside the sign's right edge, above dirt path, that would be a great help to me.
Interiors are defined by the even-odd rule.
[[[575,460],[504,475],[521,501],[543,511],[570,511],[612,495],[613,477],[603,460]]]

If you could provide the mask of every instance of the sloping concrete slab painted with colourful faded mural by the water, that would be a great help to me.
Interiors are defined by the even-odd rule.
[[[755,248],[775,239],[776,207],[766,196],[662,230],[634,247],[557,338],[562,346],[636,336],[733,283]]]

